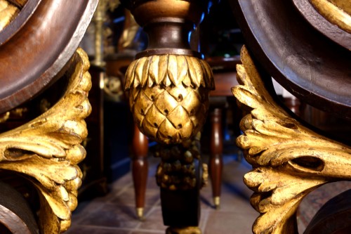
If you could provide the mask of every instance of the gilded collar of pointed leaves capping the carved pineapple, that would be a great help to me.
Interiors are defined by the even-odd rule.
[[[161,55],[139,58],[128,66],[125,89],[154,85],[215,88],[211,67],[192,56]]]

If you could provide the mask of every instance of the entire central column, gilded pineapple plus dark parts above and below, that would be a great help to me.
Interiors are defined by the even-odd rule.
[[[168,233],[185,233],[183,228],[188,226],[199,233],[202,164],[199,150],[188,148],[188,142],[197,138],[206,121],[214,81],[211,67],[201,53],[192,51],[189,39],[211,2],[121,2],[149,37],[145,51],[135,56],[126,71],[125,89],[131,93],[131,112],[140,132],[164,148],[157,169],[164,224],[171,226]]]

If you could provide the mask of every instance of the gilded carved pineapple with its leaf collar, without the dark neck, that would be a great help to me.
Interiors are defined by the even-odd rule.
[[[206,120],[211,67],[192,56],[157,55],[134,60],[126,90],[140,131],[161,143],[181,143]]]

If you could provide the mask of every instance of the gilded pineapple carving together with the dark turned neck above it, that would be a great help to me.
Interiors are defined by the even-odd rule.
[[[205,1],[176,0],[130,5],[149,35],[149,46],[128,67],[125,89],[130,91],[130,107],[140,131],[161,143],[191,138],[206,119],[213,74],[188,41],[206,11],[204,6]]]

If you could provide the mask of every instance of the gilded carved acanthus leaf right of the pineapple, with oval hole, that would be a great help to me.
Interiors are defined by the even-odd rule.
[[[244,183],[255,193],[251,204],[260,212],[253,233],[298,233],[296,209],[307,193],[324,183],[351,179],[351,148],[315,134],[289,116],[265,89],[248,51],[237,65],[239,86],[232,88],[241,108],[244,149],[253,170]]]

